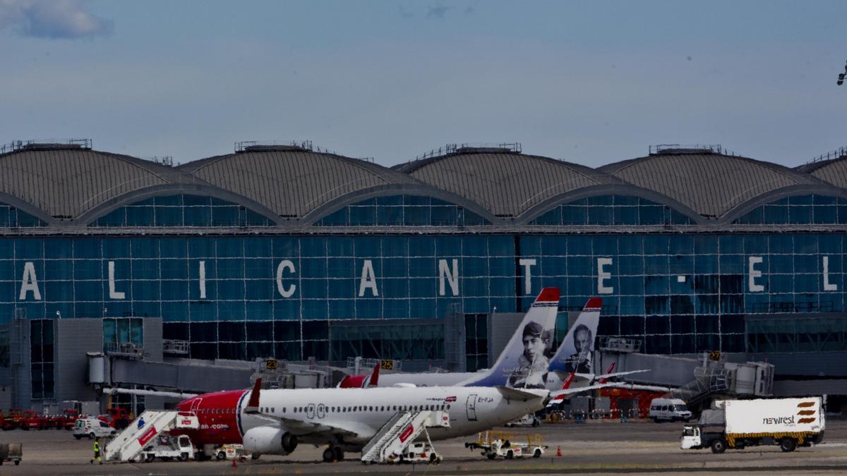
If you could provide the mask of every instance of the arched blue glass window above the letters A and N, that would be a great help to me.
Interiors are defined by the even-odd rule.
[[[465,208],[429,196],[377,196],[334,213],[318,226],[479,226],[490,224]]]

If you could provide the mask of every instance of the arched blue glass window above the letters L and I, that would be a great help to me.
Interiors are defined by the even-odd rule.
[[[94,220],[96,227],[271,226],[267,217],[213,196],[154,196]]]

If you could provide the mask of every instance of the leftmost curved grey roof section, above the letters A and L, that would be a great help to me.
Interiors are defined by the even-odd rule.
[[[83,147],[24,147],[0,155],[0,192],[58,219],[74,219],[116,196],[168,184],[174,174],[182,175],[158,163]]]

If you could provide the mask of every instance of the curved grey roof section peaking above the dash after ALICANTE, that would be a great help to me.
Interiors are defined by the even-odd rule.
[[[818,183],[809,175],[776,163],[707,150],[660,152],[600,169],[711,218],[722,217],[740,204],[771,191]]]

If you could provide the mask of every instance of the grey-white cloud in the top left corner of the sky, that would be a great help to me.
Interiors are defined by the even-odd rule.
[[[86,0],[0,0],[0,30],[50,39],[110,35],[111,19],[87,11]]]

